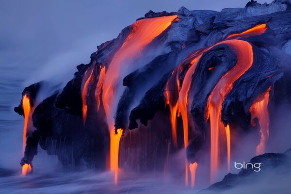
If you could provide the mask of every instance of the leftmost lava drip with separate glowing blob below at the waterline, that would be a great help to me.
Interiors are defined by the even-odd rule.
[[[31,114],[31,103],[29,94],[25,94],[22,97],[22,108],[24,112],[24,128],[23,128],[23,151],[25,150],[26,137],[28,133],[30,114]],[[32,171],[32,167],[30,164],[24,164],[22,166],[22,175],[27,175]]]

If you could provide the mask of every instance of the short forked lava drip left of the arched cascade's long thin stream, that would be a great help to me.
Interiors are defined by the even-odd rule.
[[[170,121],[172,126],[172,139],[175,147],[178,147],[177,143],[177,113],[178,113],[178,97],[180,90],[180,82],[178,75],[178,67],[172,72],[171,78],[167,81],[165,86],[164,96],[166,98],[166,104],[170,109]]]

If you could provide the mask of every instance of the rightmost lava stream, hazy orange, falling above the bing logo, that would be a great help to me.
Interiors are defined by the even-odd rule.
[[[260,143],[256,148],[256,154],[264,154],[266,144],[269,138],[269,111],[268,111],[268,104],[269,104],[269,93],[271,90],[271,86],[267,89],[266,92],[260,94],[253,102],[250,113],[251,117],[251,124],[253,127],[256,126],[255,118],[259,119],[259,132],[261,133]]]

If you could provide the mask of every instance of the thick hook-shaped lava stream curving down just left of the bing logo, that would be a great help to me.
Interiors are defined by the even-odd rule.
[[[253,49],[251,44],[242,40],[226,40],[219,44],[226,44],[238,56],[237,64],[230,69],[215,85],[208,102],[208,115],[210,118],[210,182],[213,183],[219,168],[219,134],[225,130],[221,121],[222,103],[226,95],[231,91],[233,83],[238,80],[253,64]],[[227,129],[227,127],[226,127]],[[228,128],[229,129],[229,128]],[[227,136],[227,130],[226,130]],[[230,132],[227,144],[230,148]],[[230,154],[230,153],[228,153]],[[228,158],[228,157],[227,157]],[[230,158],[230,155],[229,155]],[[228,159],[230,160],[230,159]]]

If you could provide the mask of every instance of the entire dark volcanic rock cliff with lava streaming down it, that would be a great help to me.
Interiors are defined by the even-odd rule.
[[[167,155],[187,149],[186,174],[210,155],[213,181],[246,134],[261,154],[278,129],[272,118],[291,106],[291,1],[149,11],[77,69],[40,103],[43,82],[24,90],[32,123],[22,165],[38,145],[68,168],[116,172],[163,169]],[[24,114],[22,101],[15,111]]]

